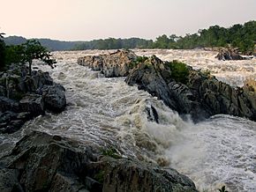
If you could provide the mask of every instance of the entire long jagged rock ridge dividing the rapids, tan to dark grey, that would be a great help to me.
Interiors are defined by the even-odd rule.
[[[171,66],[180,63],[162,62],[154,55],[140,57],[127,50],[81,57],[78,63],[100,70],[108,78],[127,76],[128,85],[138,85],[179,114],[190,114],[194,122],[214,114],[231,114],[256,121],[256,90],[250,85],[231,87],[189,66],[174,71]]]

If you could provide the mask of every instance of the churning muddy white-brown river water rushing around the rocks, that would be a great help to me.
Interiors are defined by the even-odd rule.
[[[214,52],[201,50],[134,51],[211,70],[232,85],[256,77],[255,59],[224,63],[215,60]],[[50,75],[64,85],[68,107],[61,114],[26,122],[15,134],[0,135],[0,156],[20,135],[36,129],[100,147],[114,146],[124,157],[171,166],[192,178],[200,190],[216,191],[226,185],[230,191],[256,191],[256,122],[222,114],[198,124],[184,122],[162,101],[126,85],[124,78],[103,78],[76,63],[79,56],[102,53],[54,53],[57,66]],[[40,63],[39,67],[49,70]],[[150,120],[151,106],[159,114],[159,123]]]

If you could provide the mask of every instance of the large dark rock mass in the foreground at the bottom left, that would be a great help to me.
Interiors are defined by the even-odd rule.
[[[91,143],[32,132],[0,159],[1,191],[197,191],[174,169],[103,156]]]

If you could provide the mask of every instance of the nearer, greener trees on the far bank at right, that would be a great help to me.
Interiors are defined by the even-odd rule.
[[[239,48],[241,52],[253,52],[256,42],[256,21],[249,21],[245,25],[234,25],[230,28],[210,26],[199,30],[198,33],[177,37],[163,34],[154,41],[154,48],[204,48],[229,47]]]

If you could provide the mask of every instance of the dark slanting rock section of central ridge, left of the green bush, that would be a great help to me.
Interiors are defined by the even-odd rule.
[[[192,114],[197,122],[210,116],[210,112],[202,107],[190,91],[181,83],[174,81],[167,63],[156,56],[150,57],[145,63],[139,63],[125,79],[128,85],[138,85],[176,110],[179,114]]]

